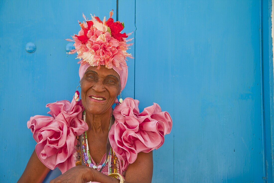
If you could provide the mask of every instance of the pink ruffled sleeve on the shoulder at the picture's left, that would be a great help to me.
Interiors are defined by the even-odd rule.
[[[35,150],[41,162],[51,170],[58,167],[62,173],[75,166],[76,135],[87,129],[82,120],[82,102],[72,100],[56,101],[46,105],[51,116],[30,117],[27,127],[37,142]]]

